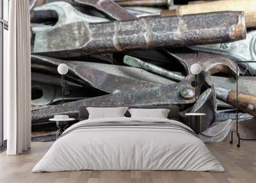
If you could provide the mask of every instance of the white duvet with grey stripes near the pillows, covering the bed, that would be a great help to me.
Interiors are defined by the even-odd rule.
[[[72,170],[224,171],[205,144],[193,134],[168,127],[91,127],[93,122],[180,122],[159,118],[84,120],[57,139],[32,172]],[[76,129],[73,130],[72,129]],[[69,132],[68,132],[69,131]]]

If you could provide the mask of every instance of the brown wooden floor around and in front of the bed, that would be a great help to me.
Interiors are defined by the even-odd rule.
[[[243,142],[241,148],[229,143],[207,144],[224,166],[225,172],[193,171],[65,171],[31,173],[31,169],[52,143],[32,143],[32,148],[19,156],[0,154],[0,182],[256,182],[256,143]]]

